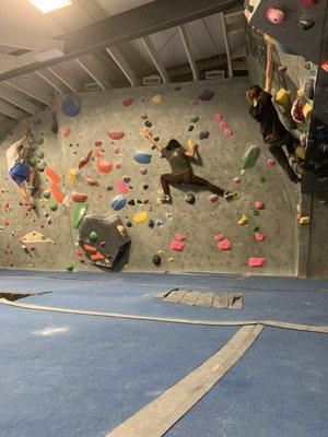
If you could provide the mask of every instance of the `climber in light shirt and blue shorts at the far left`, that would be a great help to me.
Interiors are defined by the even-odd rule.
[[[23,135],[19,141],[12,143],[5,152],[9,176],[20,187],[22,200],[25,206],[31,210],[33,202],[30,199],[30,194],[33,193],[35,187],[35,168],[28,167],[24,164],[24,161],[28,153],[27,134]],[[28,187],[26,186],[28,182]]]

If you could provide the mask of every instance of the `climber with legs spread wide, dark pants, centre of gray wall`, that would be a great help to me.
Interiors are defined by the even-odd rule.
[[[168,161],[172,168],[171,174],[165,174],[161,176],[161,185],[164,192],[164,194],[160,199],[162,203],[172,203],[169,184],[174,182],[184,182],[204,187],[209,191],[220,197],[224,197],[224,199],[227,201],[232,201],[238,198],[237,192],[223,190],[222,188],[216,187],[210,181],[194,174],[188,157],[192,157],[195,155],[195,152],[198,149],[197,144],[194,143],[189,150],[186,150],[177,140],[172,139],[168,141],[167,145],[164,146],[154,141],[151,133],[147,129],[143,130],[142,134],[147,140],[151,141],[154,147],[156,147],[161,152],[162,157],[165,157]]]

